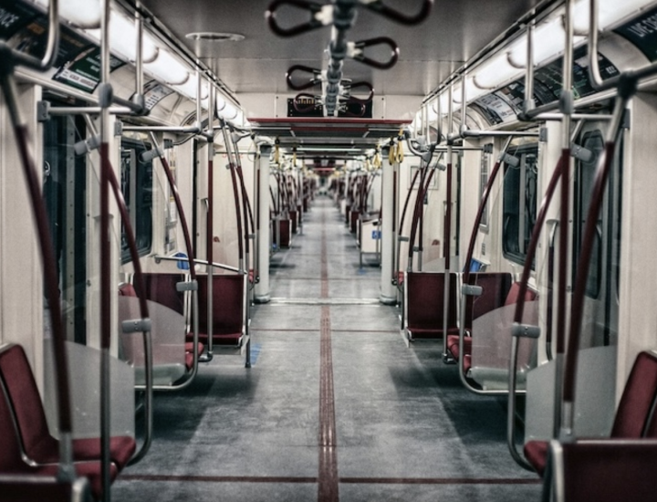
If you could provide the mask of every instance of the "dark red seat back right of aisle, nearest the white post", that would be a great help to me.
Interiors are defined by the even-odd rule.
[[[444,274],[409,272],[406,276],[407,326],[413,338],[442,338]],[[456,314],[456,275],[450,274],[450,308],[447,335],[458,333]]]

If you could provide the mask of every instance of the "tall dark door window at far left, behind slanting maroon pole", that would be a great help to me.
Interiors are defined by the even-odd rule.
[[[87,158],[74,144],[85,138],[81,117],[44,122],[43,196],[57,258],[67,339],[87,340]],[[47,319],[47,316],[45,317]]]

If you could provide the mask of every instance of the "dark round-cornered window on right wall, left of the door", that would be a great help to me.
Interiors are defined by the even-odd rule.
[[[520,162],[505,164],[503,251],[507,259],[522,265],[537,216],[538,145],[511,147],[508,153]]]

